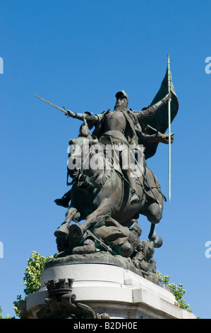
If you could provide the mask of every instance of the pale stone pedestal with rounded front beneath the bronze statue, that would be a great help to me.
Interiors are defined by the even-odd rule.
[[[80,261],[73,256],[49,261],[41,275],[40,290],[28,295],[22,304],[28,318],[39,318],[41,310],[49,306],[47,281],[68,279],[73,279],[74,300],[90,307],[95,315],[107,313],[110,319],[195,319],[179,307],[171,290],[159,282],[156,274],[122,267],[118,259],[111,264],[106,256],[104,262],[97,258],[90,262],[86,256],[80,256]]]

